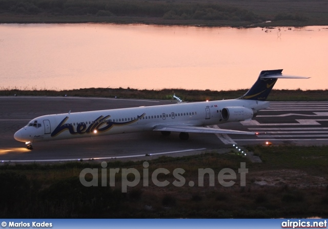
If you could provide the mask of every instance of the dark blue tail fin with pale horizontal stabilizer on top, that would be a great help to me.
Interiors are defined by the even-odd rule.
[[[277,82],[278,78],[285,79],[307,79],[310,77],[282,75],[282,69],[278,70],[264,70],[260,72],[253,87],[239,99],[251,99],[251,100],[262,100],[267,99],[273,86]]]

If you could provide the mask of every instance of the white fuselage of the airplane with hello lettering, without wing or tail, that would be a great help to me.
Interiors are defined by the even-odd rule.
[[[165,125],[203,127],[251,119],[257,111],[269,106],[267,101],[231,99],[44,115],[32,119],[14,137],[18,141],[37,142],[152,131]],[[224,120],[221,111],[227,107],[247,108],[254,114],[241,116],[240,120]]]

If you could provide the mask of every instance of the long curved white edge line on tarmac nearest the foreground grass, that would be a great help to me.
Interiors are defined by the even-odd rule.
[[[206,148],[154,153],[154,154],[148,154],[148,155],[156,156],[156,155],[162,155],[162,154],[183,153],[183,152],[192,152],[192,151],[199,151],[199,150],[206,150]],[[131,156],[119,156],[119,157],[94,157],[94,158],[74,158],[74,159],[52,159],[52,160],[2,160],[0,162],[89,161],[89,160],[106,160],[106,159],[119,159],[119,158],[130,158],[130,157],[145,157],[145,156],[146,156],[146,154],[131,155]]]

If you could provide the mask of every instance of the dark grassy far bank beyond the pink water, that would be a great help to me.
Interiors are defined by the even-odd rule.
[[[304,27],[328,25],[323,1],[200,0],[104,2],[36,0],[0,3],[0,23],[114,23],[202,27]],[[270,22],[269,22],[270,21]],[[268,22],[268,23],[267,23]]]

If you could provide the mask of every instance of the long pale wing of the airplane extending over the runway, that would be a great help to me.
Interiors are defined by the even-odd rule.
[[[172,132],[189,132],[189,133],[208,133],[208,134],[250,134],[256,135],[254,132],[224,130],[207,127],[193,127],[187,125],[159,125],[153,131],[172,131]]]

